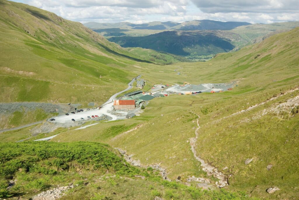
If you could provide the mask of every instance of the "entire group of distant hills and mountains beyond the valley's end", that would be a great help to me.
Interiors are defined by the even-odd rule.
[[[249,24],[231,29],[242,23],[211,20],[194,20],[183,23],[150,22],[148,24],[95,23],[94,27],[97,28],[93,30],[122,47],[141,47],[172,53],[189,59],[203,59],[202,56],[238,50],[248,44],[262,41],[270,35],[289,31],[299,26],[299,22],[283,22]],[[89,25],[92,24],[93,22],[89,23]],[[101,29],[99,27],[107,28]],[[157,29],[160,27],[163,30],[141,29],[149,27]],[[196,28],[198,30],[194,30]],[[210,30],[206,30],[208,28]],[[215,30],[217,28],[219,30]]]

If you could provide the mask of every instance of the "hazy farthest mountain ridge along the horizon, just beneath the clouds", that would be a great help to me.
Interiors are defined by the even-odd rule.
[[[120,23],[97,23],[87,22],[84,26],[91,29],[108,29],[108,28],[123,28],[123,29],[146,29],[146,30],[231,30],[239,26],[250,25],[248,22],[235,21],[213,21],[213,20],[193,20],[182,23],[173,21],[153,21],[145,24],[132,24],[130,22]]]

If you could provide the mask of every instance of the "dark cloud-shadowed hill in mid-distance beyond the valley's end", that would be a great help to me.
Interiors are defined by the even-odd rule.
[[[122,47],[142,47],[180,56],[210,55],[234,49],[234,45],[228,39],[218,35],[218,32],[213,31],[164,31],[149,36],[122,36],[108,40]]]

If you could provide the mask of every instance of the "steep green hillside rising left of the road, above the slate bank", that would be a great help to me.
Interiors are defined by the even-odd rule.
[[[103,102],[136,75],[132,65],[151,62],[138,59],[142,50],[133,54],[54,13],[0,4],[1,102]],[[159,61],[178,60],[166,55]]]

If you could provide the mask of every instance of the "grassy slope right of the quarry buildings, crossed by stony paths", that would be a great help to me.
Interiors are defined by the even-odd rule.
[[[233,174],[229,179],[230,190],[245,190],[252,196],[271,199],[294,199],[298,193],[298,188],[294,187],[299,170],[295,161],[299,152],[294,148],[298,146],[295,134],[298,132],[298,116],[288,117],[289,114],[284,113],[281,118],[269,113],[260,119],[241,121],[297,96],[298,91],[250,112],[220,122],[216,120],[298,87],[298,32],[297,28],[272,36],[239,52],[220,54],[209,62],[181,64],[179,71],[183,76],[169,72],[169,76],[165,77],[173,82],[179,82],[174,81],[175,77],[184,77],[182,81],[191,83],[238,81],[238,87],[230,92],[154,99],[141,117],[110,122],[111,126],[143,124],[137,130],[115,139],[103,138],[105,127],[109,127],[105,124],[86,130],[66,131],[54,141],[103,141],[126,149],[143,164],[161,163],[172,179],[182,176],[184,180],[192,175],[205,177],[187,143],[190,137],[194,137],[193,127],[196,127],[193,122],[196,117],[190,113],[193,111],[201,116],[198,154],[220,170],[229,167],[229,171],[223,172]],[[179,68],[176,65],[169,67],[169,71]],[[139,119],[144,122],[138,122]],[[277,127],[281,127],[279,131]],[[285,141],[289,143],[285,144]],[[247,158],[254,158],[254,161],[245,165]],[[268,171],[266,166],[270,163],[275,167]],[[271,186],[277,186],[281,191],[269,195],[265,190]]]

